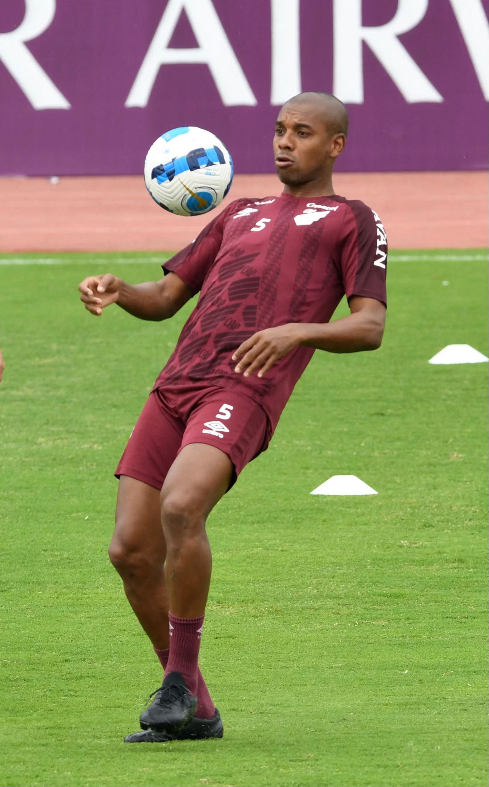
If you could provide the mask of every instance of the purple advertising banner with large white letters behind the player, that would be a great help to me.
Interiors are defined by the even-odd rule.
[[[273,172],[280,105],[334,92],[338,169],[487,168],[487,0],[9,0],[0,174],[141,174],[170,128]]]

